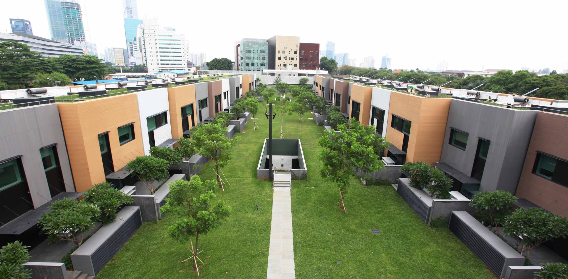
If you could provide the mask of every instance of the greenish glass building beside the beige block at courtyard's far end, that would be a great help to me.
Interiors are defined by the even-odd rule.
[[[268,41],[266,39],[242,39],[235,45],[237,70],[268,69]]]

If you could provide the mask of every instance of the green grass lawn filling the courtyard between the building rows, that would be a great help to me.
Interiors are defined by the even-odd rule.
[[[268,137],[268,119],[259,114],[261,130],[254,131],[251,120],[237,134],[234,158],[223,169],[231,185],[216,194],[233,210],[199,238],[201,278],[266,278],[273,191],[271,182],[256,179]],[[308,180],[293,181],[291,190],[296,278],[495,278],[448,229],[423,223],[390,186],[363,186],[352,178],[347,212],[340,210],[337,186],[319,175],[316,143],[324,129],[310,116],[304,123],[298,115],[284,116],[284,136],[302,140],[308,169]],[[275,137],[280,117],[274,119]],[[211,163],[202,180],[215,178]],[[97,278],[198,278],[189,261],[179,263],[189,257],[189,243],[166,235],[174,221],[166,215],[143,224]],[[381,233],[371,234],[371,228]]]

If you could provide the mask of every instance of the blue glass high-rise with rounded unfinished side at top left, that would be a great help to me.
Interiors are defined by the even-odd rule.
[[[85,28],[77,0],[44,0],[44,3],[51,39],[84,45]]]

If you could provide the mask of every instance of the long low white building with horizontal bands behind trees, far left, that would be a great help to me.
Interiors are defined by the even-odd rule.
[[[39,52],[42,56],[46,57],[59,57],[61,55],[85,55],[85,50],[82,47],[60,43],[59,41],[49,40],[34,35],[27,34],[5,34],[0,33],[0,41],[17,41],[18,43],[26,44],[30,47],[30,51]]]

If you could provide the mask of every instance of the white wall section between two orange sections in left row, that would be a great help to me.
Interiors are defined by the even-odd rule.
[[[138,99],[138,111],[140,113],[140,128],[142,131],[142,143],[144,145],[144,155],[150,155],[150,140],[148,136],[148,116],[168,111],[168,124],[154,130],[154,140],[156,146],[172,138],[172,128],[170,127],[170,112],[168,101],[168,89],[157,88],[153,90],[141,91],[136,93]],[[138,136],[138,135],[136,135]]]

